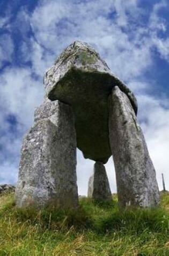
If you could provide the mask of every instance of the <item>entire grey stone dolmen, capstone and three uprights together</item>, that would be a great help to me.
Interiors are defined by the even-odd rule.
[[[104,164],[113,156],[119,207],[157,206],[156,171],[136,98],[99,54],[75,41],[45,73],[44,85],[43,103],[21,147],[17,207],[76,208],[76,148],[95,161],[89,197],[112,199]]]

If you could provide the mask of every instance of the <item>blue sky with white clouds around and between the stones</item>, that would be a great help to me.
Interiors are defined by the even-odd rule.
[[[23,136],[43,101],[43,75],[75,40],[97,50],[135,93],[138,120],[169,190],[169,3],[166,0],[0,1],[0,184],[17,183]],[[79,195],[91,160],[77,150]],[[116,192],[112,157],[105,165]]]

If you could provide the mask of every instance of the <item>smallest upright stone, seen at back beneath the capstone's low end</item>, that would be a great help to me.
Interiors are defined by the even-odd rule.
[[[94,174],[89,179],[87,196],[94,200],[112,200],[106,169],[101,162],[94,164]]]

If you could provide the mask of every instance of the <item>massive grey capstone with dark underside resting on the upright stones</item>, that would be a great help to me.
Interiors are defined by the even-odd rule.
[[[112,155],[108,139],[107,98],[118,85],[137,112],[135,96],[97,52],[80,41],[65,49],[45,74],[45,100],[60,100],[72,106],[77,147],[85,158],[106,163]]]

